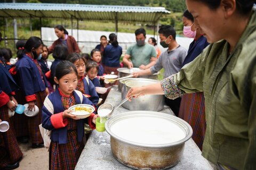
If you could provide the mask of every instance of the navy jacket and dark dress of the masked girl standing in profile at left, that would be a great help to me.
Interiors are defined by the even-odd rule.
[[[28,55],[24,54],[16,63],[18,84],[21,87],[23,102],[35,101],[39,113],[34,117],[27,117],[29,137],[33,144],[43,142],[38,125],[41,124],[42,105],[46,97],[45,82],[39,63]],[[22,101],[21,101],[22,103]]]

